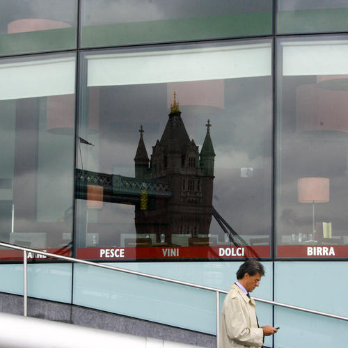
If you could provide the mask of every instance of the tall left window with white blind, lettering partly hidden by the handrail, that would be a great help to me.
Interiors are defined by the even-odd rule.
[[[74,78],[72,54],[0,60],[1,242],[70,253]]]

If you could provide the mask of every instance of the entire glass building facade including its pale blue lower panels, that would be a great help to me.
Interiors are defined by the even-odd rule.
[[[256,297],[347,317],[347,10],[2,1],[0,241],[225,290],[259,258]],[[1,292],[21,258],[0,250]],[[29,296],[216,334],[205,290],[29,258]],[[258,317],[267,347],[345,342],[337,319]]]

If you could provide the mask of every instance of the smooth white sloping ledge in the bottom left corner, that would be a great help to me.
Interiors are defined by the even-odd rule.
[[[194,348],[179,342],[147,338],[52,320],[0,313],[0,347],[13,348]]]

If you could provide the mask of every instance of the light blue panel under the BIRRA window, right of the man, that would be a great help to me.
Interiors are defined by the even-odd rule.
[[[275,301],[348,317],[348,262],[275,262]],[[275,347],[347,347],[348,323],[276,307]]]

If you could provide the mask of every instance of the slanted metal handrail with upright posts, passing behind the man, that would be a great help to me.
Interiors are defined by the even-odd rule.
[[[47,253],[46,251],[37,251],[35,249],[25,248],[23,246],[15,246],[13,244],[7,244],[7,243],[3,243],[3,242],[0,242],[0,246],[4,246],[6,248],[12,248],[12,249],[23,251],[23,267],[24,267],[24,292],[23,292],[23,294],[24,294],[24,316],[25,317],[26,317],[27,301],[28,301],[28,296],[27,296],[27,292],[26,292],[26,285],[27,285],[26,284],[26,268],[27,268],[27,253],[29,252],[29,253],[35,253],[35,254],[39,254],[39,255],[49,256],[51,258],[58,258],[60,260],[77,262],[77,263],[81,263],[81,264],[88,264],[89,266],[100,267],[100,268],[104,268],[104,269],[111,269],[113,271],[120,271],[120,272],[127,273],[127,274],[134,274],[136,276],[143,276],[145,278],[152,278],[152,279],[166,281],[169,283],[175,283],[175,284],[180,284],[180,285],[186,285],[189,287],[196,287],[198,289],[213,291],[216,293],[216,340],[217,340],[217,347],[219,347],[219,332],[220,332],[220,304],[219,304],[220,303],[220,295],[219,294],[220,293],[221,294],[228,294],[228,291],[226,291],[226,290],[217,289],[215,287],[207,287],[205,285],[188,283],[188,282],[184,282],[182,280],[175,280],[175,279],[165,278],[165,277],[161,277],[161,276],[154,276],[152,274],[146,274],[146,273],[142,273],[139,271],[132,271],[130,269],[122,269],[120,267],[113,267],[113,266],[109,266],[107,264],[100,264],[97,262],[91,262],[91,261],[80,260],[80,259],[76,259],[76,258],[70,258],[69,256]],[[255,301],[259,301],[262,303],[271,304],[272,306],[280,306],[280,307],[285,307],[285,308],[289,308],[292,310],[300,310],[301,312],[311,313],[311,314],[315,314],[315,315],[322,315],[324,317],[331,317],[333,319],[340,319],[340,320],[345,320],[348,322],[348,317],[343,317],[341,315],[334,315],[331,313],[319,312],[318,310],[311,310],[308,308],[302,308],[302,307],[298,307],[298,306],[288,305],[286,303],[280,303],[280,302],[271,301],[271,300],[259,299],[257,297],[253,297],[253,299]]]

